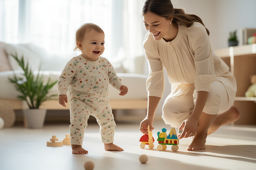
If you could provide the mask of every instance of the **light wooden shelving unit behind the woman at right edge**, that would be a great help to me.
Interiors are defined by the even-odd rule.
[[[241,116],[235,124],[256,124],[256,97],[244,96],[251,85],[250,75],[256,74],[256,44],[218,49],[214,53],[228,64],[236,78],[234,106],[239,109]]]

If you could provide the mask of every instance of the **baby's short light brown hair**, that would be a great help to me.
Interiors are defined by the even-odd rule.
[[[82,41],[84,39],[84,34],[88,33],[92,29],[94,29],[99,33],[104,34],[104,31],[98,25],[94,23],[84,23],[83,25],[80,26],[80,28],[76,30],[76,42]],[[75,46],[74,51],[80,51],[77,45]]]

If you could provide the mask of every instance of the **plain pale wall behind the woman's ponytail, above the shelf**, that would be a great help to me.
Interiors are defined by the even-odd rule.
[[[256,28],[256,0],[172,0],[174,8],[199,16],[210,31],[213,50],[228,47],[230,31]]]

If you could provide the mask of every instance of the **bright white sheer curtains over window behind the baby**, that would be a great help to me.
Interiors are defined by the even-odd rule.
[[[113,63],[142,56],[143,0],[0,0],[0,41],[34,43],[70,59],[75,32],[92,22],[105,32],[103,57]],[[72,55],[72,56],[70,56]]]

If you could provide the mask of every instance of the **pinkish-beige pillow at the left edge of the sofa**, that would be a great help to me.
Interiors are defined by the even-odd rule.
[[[0,72],[12,70],[8,60],[8,56],[6,55],[5,48],[6,48],[6,43],[0,42]]]

